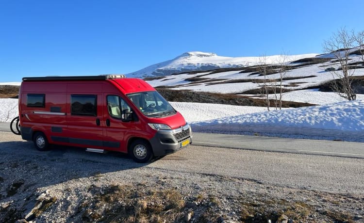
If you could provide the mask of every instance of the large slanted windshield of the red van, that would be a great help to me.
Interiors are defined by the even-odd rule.
[[[127,96],[147,117],[164,117],[176,113],[176,110],[157,91],[138,92]]]

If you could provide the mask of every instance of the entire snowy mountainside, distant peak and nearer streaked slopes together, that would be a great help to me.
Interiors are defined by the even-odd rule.
[[[355,77],[353,87],[357,99],[364,99],[364,61],[360,50],[360,48],[350,49],[348,60],[350,61],[351,75]],[[325,100],[314,99],[314,104],[326,104],[343,100],[337,94],[330,93],[330,81],[335,77],[333,72],[340,74],[342,69],[335,55],[343,53],[343,51],[334,51],[321,55],[232,58],[220,57],[212,53],[190,52],[174,60],[147,67],[141,70],[142,72],[135,72],[135,75],[142,77],[144,75],[160,75],[158,78],[147,80],[150,85],[160,89],[235,94],[252,98],[261,98],[263,83],[268,80],[269,87],[279,87],[281,84],[284,89],[282,99],[285,101],[307,103],[311,101],[309,98],[325,98]],[[281,64],[283,61],[286,67],[284,73],[281,74],[280,66],[277,64]],[[269,73],[266,77],[257,70],[256,65],[261,63],[270,64],[267,66]],[[210,64],[210,66],[214,64],[225,69],[210,69],[202,72],[182,71],[186,64],[189,64],[191,70],[201,70],[202,64],[205,66],[206,64]],[[155,69],[156,66],[160,67],[159,73]],[[234,66],[239,67],[234,68]],[[179,74],[163,75],[166,67],[169,68],[169,72]],[[281,75],[283,75],[282,81],[278,83]],[[272,93],[269,97],[274,99],[277,95]],[[319,95],[326,96],[321,97]]]

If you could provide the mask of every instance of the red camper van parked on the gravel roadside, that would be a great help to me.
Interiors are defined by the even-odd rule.
[[[192,143],[190,125],[144,80],[123,75],[22,80],[21,137],[38,150],[60,144],[147,162]]]

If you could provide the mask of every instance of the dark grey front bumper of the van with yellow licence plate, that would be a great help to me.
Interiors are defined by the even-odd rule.
[[[149,140],[156,157],[174,153],[192,143],[192,129],[189,124],[171,130],[158,130]]]

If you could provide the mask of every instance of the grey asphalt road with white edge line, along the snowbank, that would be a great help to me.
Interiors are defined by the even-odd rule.
[[[0,131],[9,131],[9,123],[0,123]],[[364,143],[324,140],[300,140],[261,136],[194,133],[194,145],[288,152],[364,159]]]

